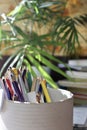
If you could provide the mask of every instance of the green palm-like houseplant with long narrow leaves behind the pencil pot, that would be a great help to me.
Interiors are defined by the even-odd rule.
[[[36,74],[31,66],[36,66],[54,88],[57,87],[55,82],[42,65],[69,78],[62,70],[52,64],[53,61],[62,63],[53,54],[57,46],[61,46],[69,54],[75,53],[76,44],[80,45],[78,39],[80,33],[76,29],[76,24],[83,24],[83,21],[87,20],[87,16],[63,17],[65,6],[66,2],[59,0],[51,2],[22,0],[12,12],[1,15],[0,44],[4,43],[5,48],[0,53],[13,49],[13,54],[3,65],[1,73],[12,61],[10,66],[16,64],[18,68],[26,65],[34,77]],[[45,28],[47,29],[44,30]],[[41,33],[41,30],[44,30],[45,33]],[[52,53],[48,51],[49,45],[54,48]]]

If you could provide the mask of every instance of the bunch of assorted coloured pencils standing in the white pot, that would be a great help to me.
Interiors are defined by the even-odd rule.
[[[34,78],[26,67],[9,68],[0,79],[6,99],[20,102],[51,102],[46,80]]]

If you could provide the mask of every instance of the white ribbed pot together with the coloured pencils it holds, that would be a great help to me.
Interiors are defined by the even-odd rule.
[[[71,92],[48,87],[26,68],[9,68],[0,87],[0,130],[73,129]]]

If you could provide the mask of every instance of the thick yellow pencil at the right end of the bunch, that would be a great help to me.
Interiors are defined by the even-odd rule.
[[[51,98],[49,96],[49,93],[48,93],[48,90],[47,90],[47,87],[46,87],[46,80],[42,80],[41,81],[41,86],[42,86],[43,93],[45,95],[46,101],[50,103],[51,102]]]

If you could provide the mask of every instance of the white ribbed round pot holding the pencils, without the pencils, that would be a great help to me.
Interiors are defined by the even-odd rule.
[[[72,93],[52,88],[48,88],[48,92],[51,103],[21,103],[4,99],[0,130],[72,130]]]

